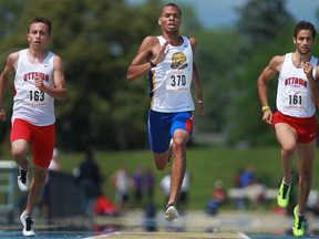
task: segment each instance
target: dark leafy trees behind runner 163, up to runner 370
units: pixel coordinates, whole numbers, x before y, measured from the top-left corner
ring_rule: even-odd
[[[141,148],[147,145],[146,76],[126,82],[126,70],[141,41],[161,34],[160,0],[128,6],[124,0],[0,1],[1,65],[8,54],[28,46],[28,22],[35,15],[52,20],[51,49],[64,62],[69,98],[55,102],[56,143],[61,148]],[[186,15],[192,15],[188,9]],[[198,27],[191,18],[184,28]],[[12,79],[13,80],[13,79]],[[13,89],[4,107],[10,117]],[[0,142],[10,121],[1,124]]]

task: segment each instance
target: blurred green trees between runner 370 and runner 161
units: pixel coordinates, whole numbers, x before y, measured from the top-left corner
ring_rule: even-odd
[[[235,29],[196,33],[206,111],[205,117],[196,118],[196,129],[199,134],[226,136],[230,144],[256,143],[259,139],[249,133],[267,132],[260,123],[257,74],[278,34],[285,35],[291,24],[284,0],[249,0],[238,12]],[[287,42],[278,48],[282,50],[282,45]],[[269,142],[271,136],[260,141]]]

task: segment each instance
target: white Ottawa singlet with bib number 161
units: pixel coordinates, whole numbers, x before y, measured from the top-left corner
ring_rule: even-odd
[[[311,56],[313,77],[318,59]],[[278,77],[277,110],[285,115],[294,117],[311,117],[316,106],[311,98],[311,89],[303,69],[298,69],[292,63],[292,53],[285,55],[285,61]]]

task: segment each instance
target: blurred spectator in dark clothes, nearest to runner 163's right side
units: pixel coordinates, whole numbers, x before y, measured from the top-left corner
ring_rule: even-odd
[[[103,178],[91,148],[85,152],[83,162],[74,168],[73,176],[75,177],[75,185],[80,186],[83,193],[85,211],[88,215],[92,215],[95,201],[102,195],[101,185]]]

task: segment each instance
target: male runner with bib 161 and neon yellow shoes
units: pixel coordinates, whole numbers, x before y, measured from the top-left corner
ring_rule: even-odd
[[[295,52],[271,59],[258,79],[259,97],[263,105],[263,121],[272,124],[281,145],[284,178],[277,202],[286,208],[291,189],[291,165],[295,152],[299,157],[299,199],[294,209],[294,235],[305,233],[305,211],[312,183],[312,165],[316,152],[317,121],[319,106],[317,80],[318,60],[311,55],[316,30],[310,22],[301,21],[295,27]],[[277,112],[268,104],[268,82],[279,73],[277,87]],[[316,104],[316,105],[315,105]]]

